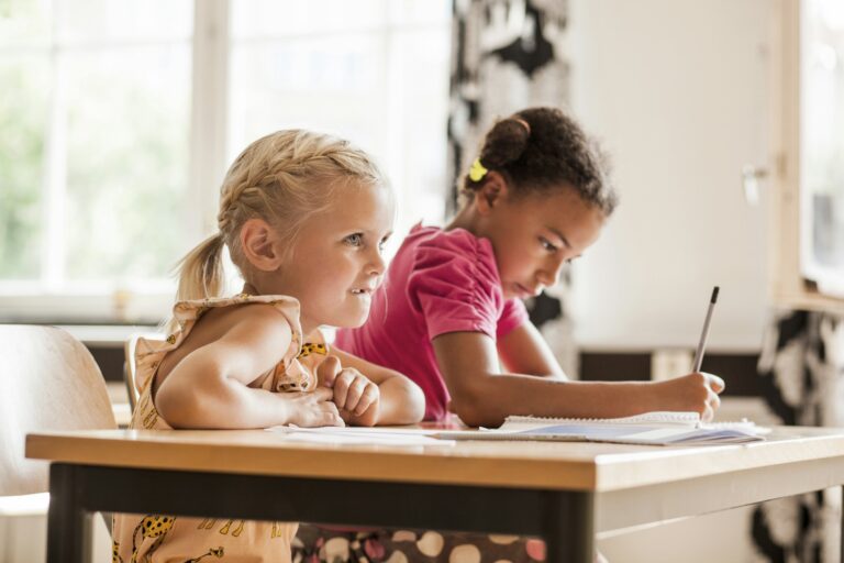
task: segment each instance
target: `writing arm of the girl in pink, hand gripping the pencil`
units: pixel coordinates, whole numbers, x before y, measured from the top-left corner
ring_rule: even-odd
[[[493,340],[451,332],[433,340],[452,395],[452,410],[469,426],[499,426],[510,415],[614,418],[651,410],[697,411],[711,418],[723,382],[689,374],[666,382],[569,382],[502,374]]]

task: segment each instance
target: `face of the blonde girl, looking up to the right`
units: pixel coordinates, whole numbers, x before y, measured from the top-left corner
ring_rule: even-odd
[[[299,299],[302,329],[359,327],[385,272],[396,207],[382,186],[341,186],[330,208],[304,221],[278,292]],[[274,284],[275,285],[275,284]]]

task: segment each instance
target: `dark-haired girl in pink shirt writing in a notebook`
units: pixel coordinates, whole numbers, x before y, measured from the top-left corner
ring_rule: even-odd
[[[577,123],[552,108],[499,121],[464,178],[463,195],[463,208],[444,229],[410,232],[373,297],[368,321],[341,330],[337,347],[413,379],[425,394],[426,420],[443,420],[448,411],[485,427],[510,415],[612,418],[675,410],[712,417],[721,378],[569,380],[528,319],[521,300],[556,284],[564,264],[596,242],[617,205],[601,155]],[[449,561],[458,551],[484,562],[544,556],[542,542],[515,537],[406,530],[349,539],[366,548],[352,550],[356,556],[376,561],[395,551],[402,552],[400,561]],[[338,540],[323,537],[310,545]],[[324,548],[310,553],[326,555]]]

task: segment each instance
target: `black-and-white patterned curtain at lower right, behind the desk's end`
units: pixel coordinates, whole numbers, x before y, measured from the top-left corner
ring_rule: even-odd
[[[808,311],[776,314],[758,372],[763,398],[782,424],[844,426],[844,319]],[[760,561],[840,561],[839,487],[765,503],[752,518]]]

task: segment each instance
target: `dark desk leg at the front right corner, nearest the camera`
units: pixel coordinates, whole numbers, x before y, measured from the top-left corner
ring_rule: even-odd
[[[590,493],[546,493],[543,518],[548,563],[592,563],[595,506]]]

